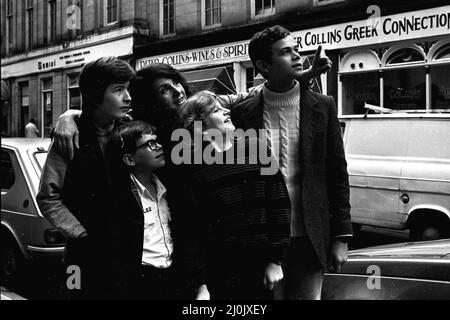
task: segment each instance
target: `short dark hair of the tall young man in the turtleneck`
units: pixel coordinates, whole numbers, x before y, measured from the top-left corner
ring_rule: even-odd
[[[264,77],[266,75],[258,69],[256,61],[262,60],[269,63],[272,62],[272,44],[286,38],[290,34],[289,30],[280,25],[276,25],[253,35],[248,45],[248,55],[250,56],[255,69]]]

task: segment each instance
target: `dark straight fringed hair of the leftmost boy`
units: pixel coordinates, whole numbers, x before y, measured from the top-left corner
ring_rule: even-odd
[[[87,63],[80,73],[79,86],[83,98],[83,111],[92,113],[103,101],[106,88],[115,83],[132,81],[136,73],[119,58],[102,57]]]

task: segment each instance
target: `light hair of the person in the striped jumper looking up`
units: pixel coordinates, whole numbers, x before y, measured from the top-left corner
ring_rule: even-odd
[[[208,109],[208,107],[214,105],[216,101],[218,101],[217,95],[207,90],[197,92],[190,97],[181,110],[183,127],[193,134],[194,122],[202,121],[203,123],[212,111],[212,108]]]

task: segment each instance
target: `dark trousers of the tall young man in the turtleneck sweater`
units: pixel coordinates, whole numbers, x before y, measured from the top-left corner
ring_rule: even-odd
[[[323,268],[308,237],[291,238],[276,299],[320,300]]]

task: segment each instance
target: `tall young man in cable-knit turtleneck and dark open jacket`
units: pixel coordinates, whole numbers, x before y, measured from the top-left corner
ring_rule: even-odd
[[[237,128],[266,129],[291,199],[291,247],[283,269],[287,299],[320,299],[323,272],[338,272],[352,236],[349,184],[341,129],[332,97],[303,88],[298,45],[280,26],[255,34],[254,67],[267,80],[235,106]]]

